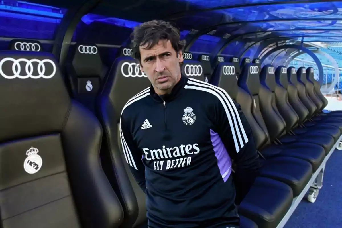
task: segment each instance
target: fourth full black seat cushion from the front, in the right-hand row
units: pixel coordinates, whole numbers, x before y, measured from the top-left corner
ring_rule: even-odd
[[[329,153],[329,151],[334,146],[335,142],[332,136],[325,135],[325,134],[319,134],[316,132],[307,133],[305,135],[284,135],[281,137],[280,142],[282,144],[292,144],[292,143],[298,143],[298,142],[307,142],[319,145],[324,148],[326,154]]]

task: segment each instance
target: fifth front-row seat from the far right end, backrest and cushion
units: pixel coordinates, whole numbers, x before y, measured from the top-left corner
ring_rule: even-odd
[[[287,124],[293,124],[289,125],[290,130],[294,127],[295,122],[293,120],[291,122],[286,122],[283,117],[288,115],[288,113],[283,112],[281,115],[277,108],[275,94],[275,68],[272,65],[265,65],[262,68],[260,82],[261,86],[259,91],[259,98],[261,104],[261,111],[265,118],[267,129],[272,135],[271,140],[277,142],[280,141],[280,143],[283,144],[297,144],[297,142],[317,144],[323,147],[328,153],[335,144],[334,138],[330,135],[325,135],[323,134],[323,132],[308,132],[302,133],[300,135],[287,134]],[[337,134],[339,134],[339,129],[336,129],[336,131]]]

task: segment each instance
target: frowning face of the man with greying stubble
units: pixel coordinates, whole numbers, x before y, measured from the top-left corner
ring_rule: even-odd
[[[180,63],[183,62],[182,52],[178,55],[169,40],[160,40],[151,49],[139,47],[141,71],[145,72],[157,94],[170,93],[173,86],[181,78]]]

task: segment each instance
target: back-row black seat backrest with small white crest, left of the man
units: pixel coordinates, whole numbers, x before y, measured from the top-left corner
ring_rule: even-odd
[[[104,78],[98,47],[95,44],[77,43],[71,51],[71,58],[66,63],[71,96],[94,112],[96,96]]]

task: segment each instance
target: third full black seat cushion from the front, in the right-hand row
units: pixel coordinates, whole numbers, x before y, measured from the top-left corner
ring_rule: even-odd
[[[298,142],[288,145],[269,145],[261,151],[266,159],[283,156],[293,157],[310,162],[313,172],[315,172],[320,164],[324,161],[326,153],[323,147],[311,143]]]

